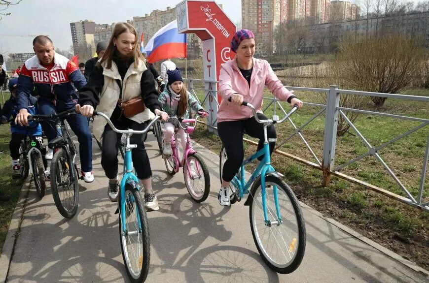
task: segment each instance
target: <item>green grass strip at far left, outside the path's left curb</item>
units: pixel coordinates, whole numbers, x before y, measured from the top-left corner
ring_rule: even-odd
[[[3,93],[5,100],[10,96],[9,93]],[[3,103],[1,103],[3,106]],[[13,210],[18,201],[23,181],[12,179],[12,169],[10,167],[11,157],[9,156],[10,126],[0,126],[0,191],[11,196],[9,201],[0,202],[0,254],[3,250],[3,243],[6,239]]]

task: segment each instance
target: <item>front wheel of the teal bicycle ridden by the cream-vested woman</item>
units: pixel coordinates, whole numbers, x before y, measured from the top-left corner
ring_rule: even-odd
[[[119,237],[128,277],[131,282],[141,283],[149,272],[150,242],[146,211],[138,189],[138,186],[134,188],[130,184],[125,186],[125,207],[120,208],[120,211],[125,209],[125,220],[119,212]],[[122,233],[122,221],[125,221],[125,233]]]

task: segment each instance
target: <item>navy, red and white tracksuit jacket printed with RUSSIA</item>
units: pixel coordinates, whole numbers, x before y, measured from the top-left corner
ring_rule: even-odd
[[[54,66],[48,70],[35,55],[22,66],[16,88],[17,108],[20,110],[29,106],[33,86],[39,102],[49,101],[55,106],[61,103],[72,108],[78,103],[76,89],[80,90],[84,85],[86,80],[78,66],[66,57],[55,53]]]

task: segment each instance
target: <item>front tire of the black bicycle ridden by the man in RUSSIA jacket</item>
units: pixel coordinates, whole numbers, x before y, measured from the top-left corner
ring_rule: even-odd
[[[62,162],[59,164],[58,162]],[[51,161],[51,189],[52,196],[54,198],[55,206],[57,207],[60,214],[65,218],[72,218],[77,211],[77,206],[79,202],[79,185],[77,182],[77,172],[74,166],[70,166],[70,157],[63,148],[58,149],[58,151],[54,154]],[[61,167],[60,167],[61,165]],[[74,170],[74,180],[70,180],[72,178],[72,171]],[[70,195],[67,191],[67,197],[70,199],[70,205],[68,208],[65,208],[63,205],[63,201],[60,196],[58,181],[63,183],[61,178],[61,173],[67,174],[67,186],[72,186],[72,188],[68,188],[68,190],[72,191],[72,195]],[[58,180],[60,179],[60,180]],[[72,184],[70,184],[72,182]],[[63,186],[61,186],[64,188]],[[63,195],[63,193],[61,193]],[[67,201],[67,200],[66,200]]]

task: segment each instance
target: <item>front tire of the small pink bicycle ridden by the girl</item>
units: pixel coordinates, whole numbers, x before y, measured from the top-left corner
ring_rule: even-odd
[[[189,174],[187,172],[187,166],[186,164],[183,166],[183,178],[185,181],[185,186],[186,189],[189,192],[189,195],[191,196],[191,198],[193,200],[195,200],[196,202],[203,202],[207,199],[207,197],[209,196],[210,193],[210,174],[209,174],[209,169],[207,169],[207,165],[204,162],[203,157],[201,157],[199,154],[197,153],[193,153],[190,154],[187,158],[188,162],[191,162],[190,160],[195,159],[195,161],[197,161],[199,163],[199,165],[196,164],[195,162],[195,168],[200,168],[200,170],[198,170],[198,175],[200,175],[200,173],[203,173],[203,177],[204,177],[204,190],[202,191],[201,194],[196,194],[195,193],[195,188],[193,188],[192,184],[192,180],[190,180],[189,178]],[[201,172],[200,172],[201,171]],[[192,173],[191,173],[192,174]],[[201,195],[201,196],[200,196]]]

